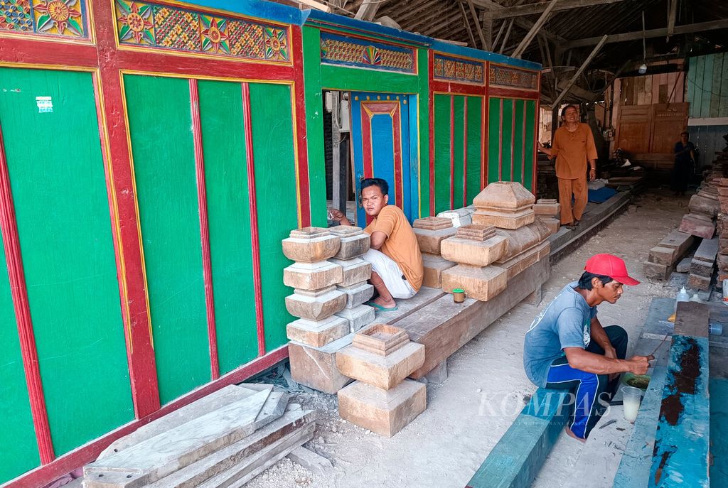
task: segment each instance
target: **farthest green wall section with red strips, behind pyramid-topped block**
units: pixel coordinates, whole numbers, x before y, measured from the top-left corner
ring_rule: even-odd
[[[488,183],[518,181],[534,191],[536,100],[488,100]]]

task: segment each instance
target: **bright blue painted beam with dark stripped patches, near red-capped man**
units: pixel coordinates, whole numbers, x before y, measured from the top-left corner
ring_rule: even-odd
[[[673,335],[649,487],[708,488],[709,440],[708,338]]]

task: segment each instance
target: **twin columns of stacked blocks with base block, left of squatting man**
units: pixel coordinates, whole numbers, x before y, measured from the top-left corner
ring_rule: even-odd
[[[370,239],[361,228],[306,227],[283,239],[283,254],[295,261],[283,270],[283,283],[293,287],[285,297],[288,313],[299,317],[286,327],[293,380],[326,393],[336,393],[349,378],[321,375],[316,361],[351,343],[353,332],[374,321],[374,309],[364,305],[373,295],[368,284],[371,264],[361,259]]]

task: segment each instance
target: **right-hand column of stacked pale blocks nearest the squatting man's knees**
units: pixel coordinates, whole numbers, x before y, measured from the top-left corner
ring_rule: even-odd
[[[341,239],[339,252],[331,263],[341,266],[343,273],[337,289],[347,297],[344,310],[336,316],[347,320],[349,332],[357,332],[374,321],[374,309],[363,305],[374,294],[374,287],[367,282],[371,278],[371,263],[361,259],[369,250],[371,239],[361,228],[351,225],[339,225],[329,231]]]

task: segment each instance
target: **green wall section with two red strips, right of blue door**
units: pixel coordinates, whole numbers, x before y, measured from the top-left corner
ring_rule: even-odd
[[[435,185],[432,191],[435,212],[443,212],[451,209],[451,196],[454,208],[466,207],[482,189],[483,97],[438,93],[433,103]]]

